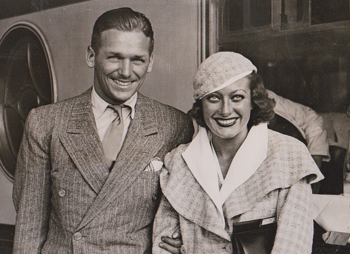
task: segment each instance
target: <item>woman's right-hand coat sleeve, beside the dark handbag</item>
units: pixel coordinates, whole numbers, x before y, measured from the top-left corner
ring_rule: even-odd
[[[310,254],[313,240],[311,186],[306,179],[281,189],[277,232],[271,254]]]

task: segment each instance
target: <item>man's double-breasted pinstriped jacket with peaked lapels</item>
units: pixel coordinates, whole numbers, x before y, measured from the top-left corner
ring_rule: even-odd
[[[109,173],[90,92],[28,116],[13,189],[14,254],[151,252],[159,172],[144,169],[189,142],[192,121],[139,94]]]

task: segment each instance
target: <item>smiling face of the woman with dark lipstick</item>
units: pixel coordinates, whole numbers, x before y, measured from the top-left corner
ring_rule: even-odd
[[[252,109],[249,80],[246,77],[208,94],[201,101],[204,120],[212,135],[223,139],[245,139]]]

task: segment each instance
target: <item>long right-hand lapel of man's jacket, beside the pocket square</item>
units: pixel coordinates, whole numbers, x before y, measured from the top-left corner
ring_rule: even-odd
[[[158,119],[152,101],[138,94],[135,117],[130,123],[116,163],[78,229],[116,200],[137,179],[163,146],[163,133],[158,130],[161,124]]]

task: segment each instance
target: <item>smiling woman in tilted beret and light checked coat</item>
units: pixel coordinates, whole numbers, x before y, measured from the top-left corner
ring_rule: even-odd
[[[245,245],[230,241],[237,223],[257,231],[262,225],[277,228],[271,244],[255,246],[256,253],[311,252],[310,184],[323,176],[303,143],[267,129],[275,102],[256,72],[233,52],[213,54],[198,68],[189,114],[200,127],[192,142],[165,158],[153,253],[161,253],[160,238],[180,225],[187,253],[233,248],[249,254]]]

